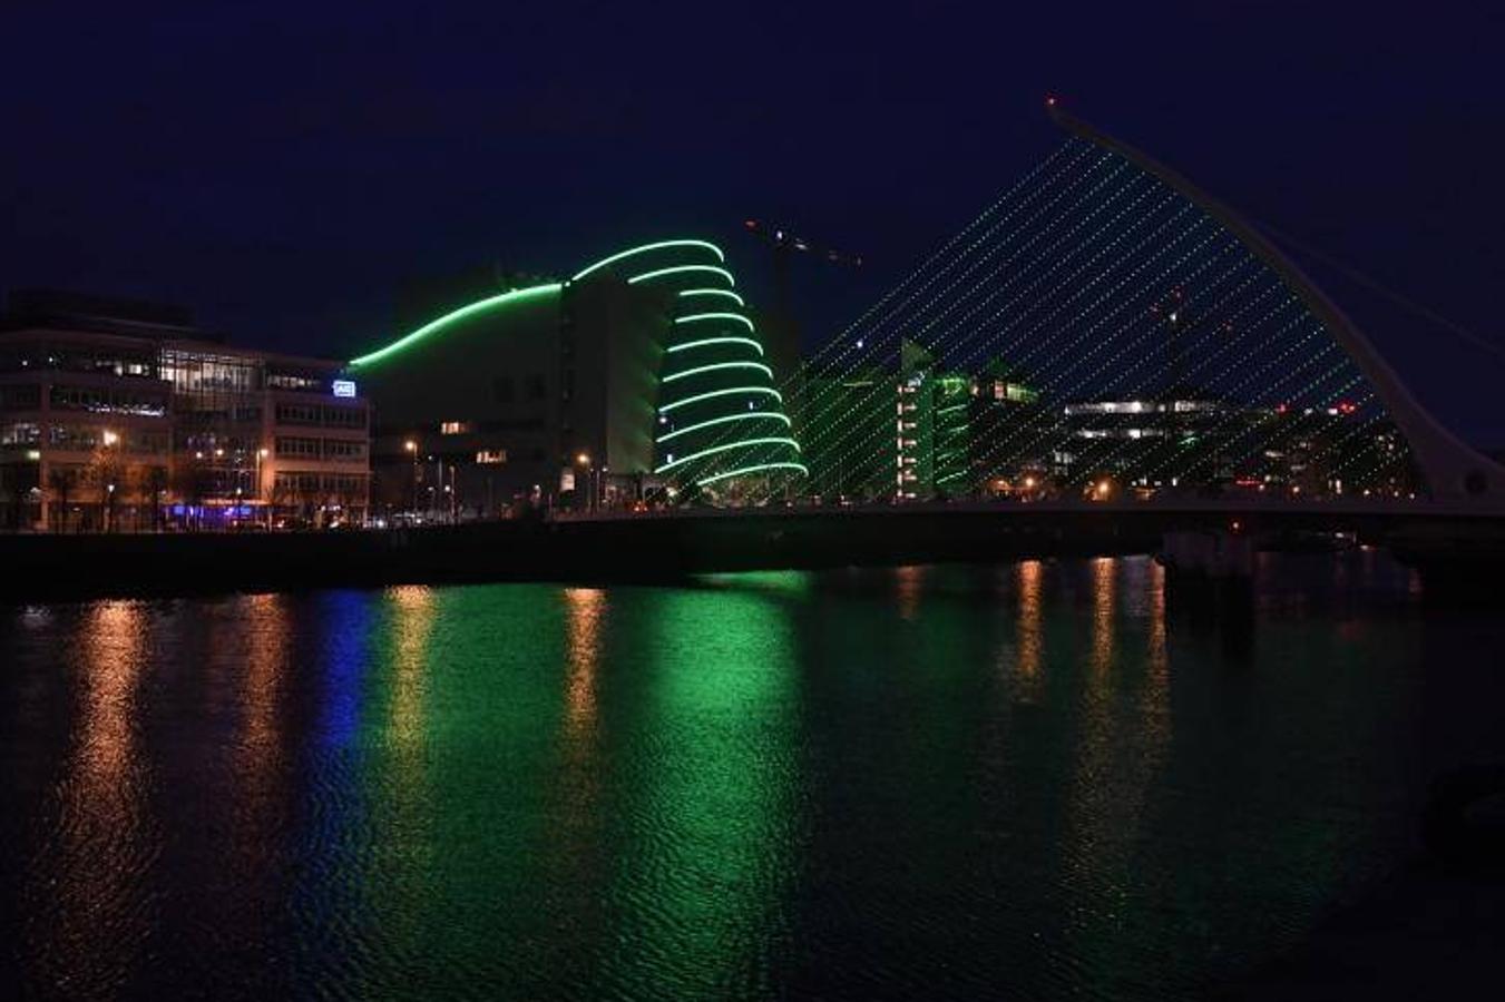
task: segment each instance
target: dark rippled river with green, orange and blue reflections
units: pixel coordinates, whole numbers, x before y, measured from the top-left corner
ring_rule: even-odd
[[[1383,554],[0,609],[41,997],[1196,997],[1505,758],[1505,624]]]

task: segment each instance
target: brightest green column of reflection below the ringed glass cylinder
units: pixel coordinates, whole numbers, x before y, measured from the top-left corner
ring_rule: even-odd
[[[638,725],[659,751],[620,858],[637,934],[610,979],[640,996],[766,990],[795,830],[790,621],[774,597],[712,588],[655,594],[650,623]]]

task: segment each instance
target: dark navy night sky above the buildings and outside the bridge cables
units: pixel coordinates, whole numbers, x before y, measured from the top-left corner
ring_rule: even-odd
[[[1050,152],[1054,92],[1505,352],[1499,9],[5,0],[0,286],[349,357],[415,281],[664,236],[716,239],[766,298],[760,217],[867,260],[801,268],[820,340]],[[1329,292],[1505,445],[1502,355]]]

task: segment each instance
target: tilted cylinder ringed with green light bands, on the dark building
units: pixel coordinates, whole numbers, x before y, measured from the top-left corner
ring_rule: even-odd
[[[658,379],[653,474],[685,490],[737,498],[790,486],[808,469],[790,432],[757,328],[715,244],[646,244],[570,283],[614,277],[656,292],[668,311]]]

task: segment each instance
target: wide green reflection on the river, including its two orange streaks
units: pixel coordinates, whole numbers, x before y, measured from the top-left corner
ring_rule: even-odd
[[[787,927],[804,588],[388,591],[355,752],[369,818],[346,837],[367,843],[355,921],[411,981],[361,991],[464,970],[509,993],[762,985]]]

